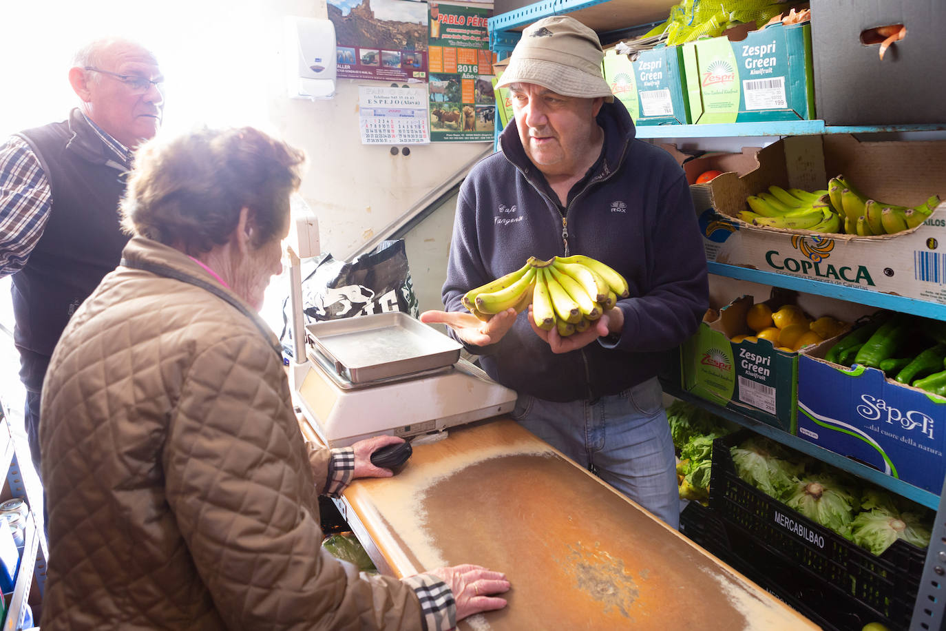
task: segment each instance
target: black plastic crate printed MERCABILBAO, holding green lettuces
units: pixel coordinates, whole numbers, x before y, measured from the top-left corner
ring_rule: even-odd
[[[727,524],[733,554],[776,583],[780,565],[796,567],[812,587],[831,594],[826,601],[857,613],[862,624],[905,629],[926,551],[897,540],[875,556],[743,481],[729,448],[752,435],[742,430],[713,442],[710,507]]]

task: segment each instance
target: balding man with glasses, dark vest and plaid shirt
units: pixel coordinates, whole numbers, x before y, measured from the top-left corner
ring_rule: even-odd
[[[0,145],[0,276],[12,274],[14,342],[26,433],[40,468],[40,393],[53,347],[129,237],[118,202],[131,151],[161,124],[164,78],[149,50],[121,39],[82,47],[69,70],[79,107]]]

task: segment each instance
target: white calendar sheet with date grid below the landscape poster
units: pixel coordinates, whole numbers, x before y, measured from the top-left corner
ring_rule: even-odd
[[[426,88],[359,86],[362,145],[430,142]]]

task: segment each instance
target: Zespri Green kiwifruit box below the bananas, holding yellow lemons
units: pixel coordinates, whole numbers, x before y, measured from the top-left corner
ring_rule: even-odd
[[[754,302],[749,295],[737,298],[680,345],[681,385],[711,403],[794,434],[798,354],[781,351],[768,340],[730,341],[752,334],[745,315]]]

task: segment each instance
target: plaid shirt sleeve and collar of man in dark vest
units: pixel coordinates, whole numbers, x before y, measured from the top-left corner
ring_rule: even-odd
[[[85,118],[117,162],[131,168],[131,151]],[[40,160],[20,136],[0,145],[0,276],[26,265],[43,236],[52,208],[52,191]]]

